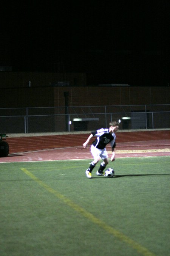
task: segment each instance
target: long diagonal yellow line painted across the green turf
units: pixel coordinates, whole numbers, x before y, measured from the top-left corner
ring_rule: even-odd
[[[36,181],[41,187],[45,188],[49,193],[55,195],[57,198],[59,198],[61,201],[63,201],[65,204],[70,206],[72,209],[76,210],[76,212],[79,212],[79,214],[82,214],[85,218],[90,220],[91,222],[95,223],[96,225],[103,228],[105,231],[107,231],[109,234],[112,234],[113,236],[117,237],[121,241],[128,243],[132,248],[134,248],[138,253],[141,253],[144,256],[155,256],[155,254],[148,251],[147,248],[143,247],[139,243],[136,243],[134,240],[130,239],[128,236],[125,236],[121,232],[117,231],[116,229],[112,228],[111,226],[107,225],[104,221],[100,220],[99,218],[96,218],[93,214],[79,206],[78,204],[71,201],[66,196],[60,194],[57,190],[54,190],[53,188],[49,187],[47,184],[45,184],[43,181],[41,181],[39,178],[37,178],[34,174],[32,174],[30,171],[28,171],[26,168],[21,168],[21,170],[28,175],[31,179]]]

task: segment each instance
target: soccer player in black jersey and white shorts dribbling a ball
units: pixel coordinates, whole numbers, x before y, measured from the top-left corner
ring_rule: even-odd
[[[100,176],[104,175],[104,169],[109,163],[108,153],[105,148],[108,143],[111,144],[111,148],[112,148],[112,156],[110,160],[111,162],[115,160],[115,147],[116,147],[115,132],[117,132],[118,129],[119,129],[119,123],[117,123],[116,121],[110,122],[109,128],[107,129],[102,128],[99,130],[92,131],[87,141],[83,143],[83,147],[85,148],[93,136],[97,137],[91,145],[91,154],[93,155],[94,160],[91,162],[89,168],[86,170],[86,176],[88,178],[92,177],[91,172],[93,168],[96,166],[96,163],[99,162],[100,158],[103,160],[103,162],[100,164],[99,170],[96,172],[96,174]]]

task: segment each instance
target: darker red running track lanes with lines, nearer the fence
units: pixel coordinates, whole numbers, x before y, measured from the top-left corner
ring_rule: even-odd
[[[41,149],[56,149],[66,147],[79,147],[88,138],[90,133],[64,133],[57,135],[36,136],[34,133],[28,136],[12,137],[9,135],[6,142],[9,144],[9,153],[36,151]],[[117,143],[131,142],[131,141],[150,141],[150,140],[170,140],[170,130],[140,130],[116,133]],[[91,139],[91,142],[94,138]]]

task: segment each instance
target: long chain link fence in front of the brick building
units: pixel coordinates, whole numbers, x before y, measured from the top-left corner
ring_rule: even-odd
[[[0,108],[1,133],[91,131],[114,120],[123,130],[170,128],[170,104]]]

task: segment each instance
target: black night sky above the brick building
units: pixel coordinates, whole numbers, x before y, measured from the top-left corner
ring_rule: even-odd
[[[0,66],[54,72],[62,62],[91,83],[167,85],[169,11],[167,0],[3,3]]]

